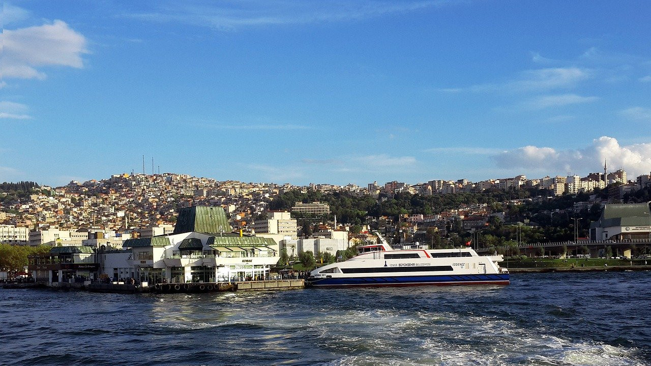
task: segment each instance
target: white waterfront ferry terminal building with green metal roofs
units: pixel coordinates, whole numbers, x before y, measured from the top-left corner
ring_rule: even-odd
[[[182,208],[172,234],[129,239],[122,247],[98,252],[100,273],[150,285],[268,279],[279,260],[273,239],[232,232],[221,207]]]

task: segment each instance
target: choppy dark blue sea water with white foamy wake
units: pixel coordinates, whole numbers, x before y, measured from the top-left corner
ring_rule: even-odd
[[[507,287],[0,291],[7,365],[651,365],[648,273]]]

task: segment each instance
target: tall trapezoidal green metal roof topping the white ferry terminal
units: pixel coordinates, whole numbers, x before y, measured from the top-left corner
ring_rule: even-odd
[[[206,234],[219,234],[221,232],[230,232],[229,219],[226,217],[224,209],[215,206],[191,206],[182,208],[178,212],[174,234],[184,232],[205,232]]]

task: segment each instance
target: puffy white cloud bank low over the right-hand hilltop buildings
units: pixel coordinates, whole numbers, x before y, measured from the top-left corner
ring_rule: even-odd
[[[605,160],[610,169],[621,168],[634,177],[651,171],[651,143],[621,146],[614,137],[603,136],[594,139],[589,147],[575,150],[527,146],[492,158],[503,169],[529,169],[546,174],[599,171]]]

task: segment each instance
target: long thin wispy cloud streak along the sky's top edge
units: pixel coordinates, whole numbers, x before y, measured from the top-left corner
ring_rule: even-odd
[[[157,12],[125,14],[130,18],[158,22],[179,22],[213,29],[232,30],[261,25],[291,25],[350,21],[374,18],[392,13],[404,13],[424,8],[442,7],[449,0],[421,1],[250,1],[215,3],[212,6],[178,3],[159,7]]]

